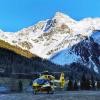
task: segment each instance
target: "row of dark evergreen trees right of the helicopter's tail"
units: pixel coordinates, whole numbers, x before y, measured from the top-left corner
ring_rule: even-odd
[[[86,78],[86,75],[83,74],[81,80],[69,79],[66,89],[68,91],[100,90],[100,80],[95,80],[93,76],[91,79]]]

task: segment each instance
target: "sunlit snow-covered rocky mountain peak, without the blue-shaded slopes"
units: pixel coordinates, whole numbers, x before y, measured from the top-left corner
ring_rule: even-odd
[[[87,18],[75,21],[57,12],[52,19],[40,21],[16,33],[1,32],[0,39],[42,57],[50,58],[55,53],[69,48],[100,29],[100,19]]]

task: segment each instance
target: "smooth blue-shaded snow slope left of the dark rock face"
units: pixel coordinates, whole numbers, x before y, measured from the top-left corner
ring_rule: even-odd
[[[50,60],[59,65],[69,65],[73,62],[77,62],[78,59],[80,59],[80,56],[76,55],[75,53],[71,53],[70,49],[65,49],[55,54]]]

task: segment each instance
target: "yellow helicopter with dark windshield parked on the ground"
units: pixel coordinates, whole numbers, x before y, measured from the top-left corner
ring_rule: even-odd
[[[39,78],[33,81],[32,87],[34,94],[37,94],[38,92],[46,92],[48,94],[53,94],[55,88],[58,87],[56,83],[59,83],[60,88],[64,88],[64,73],[62,72],[60,75],[60,79],[57,80],[53,75],[50,75],[48,74],[48,72],[46,72],[45,74],[42,74]]]

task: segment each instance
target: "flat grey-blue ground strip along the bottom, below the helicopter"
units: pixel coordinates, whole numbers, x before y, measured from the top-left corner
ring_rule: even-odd
[[[66,91],[52,94],[0,94],[0,100],[100,100],[100,91]]]

